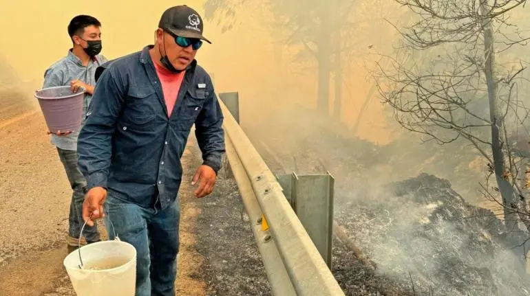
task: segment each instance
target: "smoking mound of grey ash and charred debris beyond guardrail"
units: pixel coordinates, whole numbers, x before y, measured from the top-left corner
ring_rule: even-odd
[[[466,203],[448,181],[421,174],[368,192],[337,196],[335,218],[380,273],[412,277],[421,294],[530,295],[522,248],[512,249],[527,234]]]

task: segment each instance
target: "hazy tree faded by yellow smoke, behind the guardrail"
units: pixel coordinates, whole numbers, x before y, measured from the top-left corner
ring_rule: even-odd
[[[207,0],[204,4],[206,19],[217,19],[222,30],[231,30],[235,24],[237,8],[248,5],[246,0]],[[257,2],[256,2],[257,3]],[[268,25],[275,38],[285,46],[301,45],[295,55],[299,64],[316,62],[317,109],[329,113],[330,82],[335,74],[335,106],[333,113],[340,117],[343,96],[343,67],[345,60],[357,46],[359,23],[371,18],[353,20],[358,5],[368,5],[361,0],[274,0],[262,2],[270,12]],[[346,58],[345,58],[346,57]]]

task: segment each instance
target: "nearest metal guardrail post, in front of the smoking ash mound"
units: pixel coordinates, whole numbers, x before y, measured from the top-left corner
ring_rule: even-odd
[[[301,224],[331,269],[333,241],[333,190],[335,178],[327,174],[279,174],[284,190]]]

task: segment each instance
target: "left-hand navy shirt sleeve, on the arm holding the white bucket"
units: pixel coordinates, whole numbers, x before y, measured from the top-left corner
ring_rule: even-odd
[[[107,187],[112,157],[112,134],[123,106],[123,83],[116,69],[102,74],[87,112],[77,143],[78,164],[87,179],[88,189]]]

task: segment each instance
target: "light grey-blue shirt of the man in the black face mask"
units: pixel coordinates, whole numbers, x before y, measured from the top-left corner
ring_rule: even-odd
[[[70,85],[70,82],[76,79],[89,85],[95,85],[96,80],[94,79],[94,73],[96,72],[96,68],[105,62],[107,62],[107,58],[103,55],[98,55],[90,60],[87,67],[85,67],[83,66],[83,62],[81,62],[81,59],[72,53],[72,49],[70,49],[67,56],[61,58],[61,60],[58,60],[46,69],[44,73],[43,88]],[[83,124],[85,122],[90,100],[92,100],[92,95],[85,93],[85,98],[83,100]],[[78,135],[78,130],[65,137],[52,135],[52,144],[63,150],[77,150]]]

